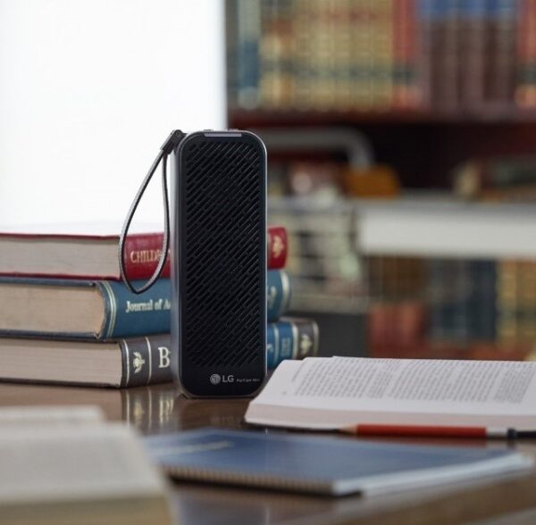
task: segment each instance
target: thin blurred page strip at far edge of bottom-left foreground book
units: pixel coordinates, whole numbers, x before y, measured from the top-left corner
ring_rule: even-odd
[[[0,408],[0,432],[9,429],[50,426],[98,425],[105,421],[102,409],[79,406],[6,406]]]

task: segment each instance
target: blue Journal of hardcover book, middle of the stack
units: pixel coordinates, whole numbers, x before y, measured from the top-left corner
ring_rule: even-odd
[[[289,310],[290,280],[284,270],[267,275],[267,316],[275,321]],[[170,308],[170,279],[158,279],[137,295],[121,281],[0,277],[2,336],[109,339],[166,333]]]

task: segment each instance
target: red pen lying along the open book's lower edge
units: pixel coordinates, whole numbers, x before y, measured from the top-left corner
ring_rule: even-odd
[[[481,439],[498,437],[515,439],[517,437],[536,437],[536,430],[499,429],[486,427],[451,427],[433,425],[380,425],[362,424],[339,429],[341,432],[356,436],[420,436],[420,437],[478,437]]]

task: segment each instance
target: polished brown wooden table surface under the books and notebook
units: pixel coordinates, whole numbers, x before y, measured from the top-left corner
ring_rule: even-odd
[[[0,384],[0,406],[30,404],[97,404],[109,420],[127,421],[144,434],[206,426],[246,428],[243,416],[247,400],[188,400],[173,385],[113,390]],[[411,440],[415,441],[415,438]],[[427,443],[441,442],[428,440]],[[505,441],[458,440],[449,444],[517,446],[536,458],[536,441],[513,445]],[[536,469],[523,475],[456,487],[368,498],[301,496],[192,483],[172,484],[171,492],[180,525],[536,523]]]

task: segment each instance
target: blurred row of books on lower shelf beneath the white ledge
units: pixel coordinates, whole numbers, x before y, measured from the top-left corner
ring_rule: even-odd
[[[536,340],[536,263],[371,256],[374,357],[523,359]]]

